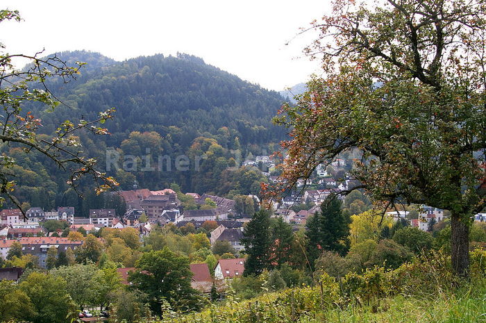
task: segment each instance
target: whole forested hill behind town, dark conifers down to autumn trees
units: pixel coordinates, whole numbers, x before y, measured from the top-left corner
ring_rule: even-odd
[[[271,123],[283,101],[277,92],[187,54],[124,62],[87,51],[56,55],[69,64],[81,61],[86,65],[76,81],[47,79],[47,88],[62,102],[55,110],[31,102],[24,103],[23,110],[40,117],[40,133],[51,135],[67,119],[95,119],[100,112],[115,108],[115,118],[103,125],[110,135],[85,131],[78,138],[87,156],[99,160],[102,171],[106,151],[116,151],[117,155],[110,156],[119,156],[115,160],[119,163],[111,163],[107,173],[119,180],[121,189],[131,189],[135,181],[139,187],[153,190],[176,182],[184,191],[249,194],[265,181],[260,172],[238,167],[249,153],[273,152],[285,137],[285,129]],[[44,156],[23,154],[15,145],[1,147],[1,151],[19,161],[15,177],[22,203],[50,208],[77,199],[65,185],[65,174]],[[135,163],[124,165],[127,154],[135,156]],[[144,157],[146,154],[150,157]],[[181,155],[187,156],[190,166],[176,170],[176,156]],[[158,160],[163,160],[160,165]],[[144,172],[144,167],[156,170]],[[80,183],[81,191],[89,187],[89,181]]]

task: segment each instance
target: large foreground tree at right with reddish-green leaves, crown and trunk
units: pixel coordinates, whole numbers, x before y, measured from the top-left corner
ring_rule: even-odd
[[[285,182],[359,149],[350,175],[384,208],[451,210],[465,274],[471,214],[486,205],[485,25],[483,0],[335,1],[306,49],[326,77],[276,119],[292,127]]]

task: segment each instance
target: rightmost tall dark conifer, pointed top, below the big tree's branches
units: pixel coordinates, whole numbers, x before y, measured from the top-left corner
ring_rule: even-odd
[[[344,254],[346,238],[349,235],[351,220],[342,212],[342,201],[331,195],[321,204],[321,211],[312,216],[308,222],[308,257],[313,265],[321,250]]]

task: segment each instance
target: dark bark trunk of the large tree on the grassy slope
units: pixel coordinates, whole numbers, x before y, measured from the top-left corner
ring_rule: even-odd
[[[469,270],[469,224],[460,214],[451,216],[452,267],[459,276],[467,276]]]

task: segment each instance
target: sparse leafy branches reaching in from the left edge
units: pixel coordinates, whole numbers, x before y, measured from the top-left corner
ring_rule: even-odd
[[[0,10],[0,22],[16,20],[21,17],[16,10]],[[45,119],[34,115],[31,110],[24,110],[26,102],[44,105],[49,110],[55,110],[60,101],[47,87],[47,78],[58,78],[60,83],[68,83],[76,78],[78,70],[83,65],[77,63],[70,67],[64,60],[54,55],[49,58],[40,58],[40,53],[34,56],[24,54],[12,55],[7,53],[3,44],[0,46],[0,98],[2,117],[0,119],[1,150],[10,146],[8,154],[0,157],[0,205],[8,200],[11,204],[22,209],[21,202],[15,197],[15,185],[20,181],[22,185],[36,186],[47,175],[43,168],[41,172],[33,172],[30,169],[17,165],[17,160],[24,161],[26,152],[33,152],[42,156],[56,165],[63,172],[69,173],[67,184],[76,188],[83,175],[90,174],[98,184],[97,190],[106,190],[117,183],[112,177],[105,176],[95,168],[96,160],[87,158],[81,149],[78,138],[79,131],[88,131],[97,135],[106,135],[107,129],[97,126],[112,118],[114,109],[103,110],[92,121],[79,119],[78,121],[65,121],[56,124],[56,130],[52,133],[41,135],[40,128]],[[17,70],[12,64],[13,59],[24,58],[29,65],[22,70]],[[15,150],[17,149],[17,150]],[[48,183],[52,183],[48,179]],[[44,194],[44,188],[37,189],[39,194]],[[25,210],[22,209],[24,212]]]

